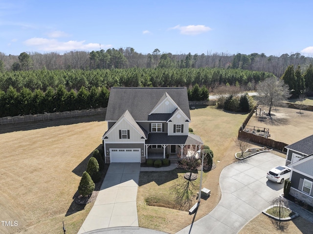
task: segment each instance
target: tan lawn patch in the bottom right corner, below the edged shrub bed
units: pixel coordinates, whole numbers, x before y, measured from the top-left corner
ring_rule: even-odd
[[[297,217],[290,221],[281,222],[281,230],[279,222],[261,213],[252,219],[239,234],[312,234],[313,223],[302,217]]]

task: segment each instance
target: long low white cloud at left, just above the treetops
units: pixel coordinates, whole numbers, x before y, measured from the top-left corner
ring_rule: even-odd
[[[46,39],[46,38],[31,38],[24,42],[28,46],[35,46],[37,49],[42,51],[70,51],[70,50],[91,50],[99,49],[99,43],[88,43],[85,41],[68,41],[59,42],[56,39]],[[109,48],[112,45],[102,45],[101,48]]]

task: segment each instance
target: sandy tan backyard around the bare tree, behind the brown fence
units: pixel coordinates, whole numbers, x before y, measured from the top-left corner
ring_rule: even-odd
[[[267,112],[268,107],[262,106],[262,110]],[[269,128],[270,139],[290,145],[313,133],[313,112],[307,110],[301,110],[302,114],[298,112],[297,109],[274,107],[271,110],[272,120],[266,118],[259,121],[258,116],[252,115],[247,125]]]

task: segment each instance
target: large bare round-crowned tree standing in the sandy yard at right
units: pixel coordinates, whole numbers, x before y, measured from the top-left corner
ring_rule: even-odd
[[[261,105],[268,106],[268,115],[273,106],[282,105],[291,96],[289,86],[283,80],[269,77],[257,85],[257,100]]]

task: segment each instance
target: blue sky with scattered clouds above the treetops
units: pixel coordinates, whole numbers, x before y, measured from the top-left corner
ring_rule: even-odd
[[[313,56],[312,0],[0,0],[0,52]]]

